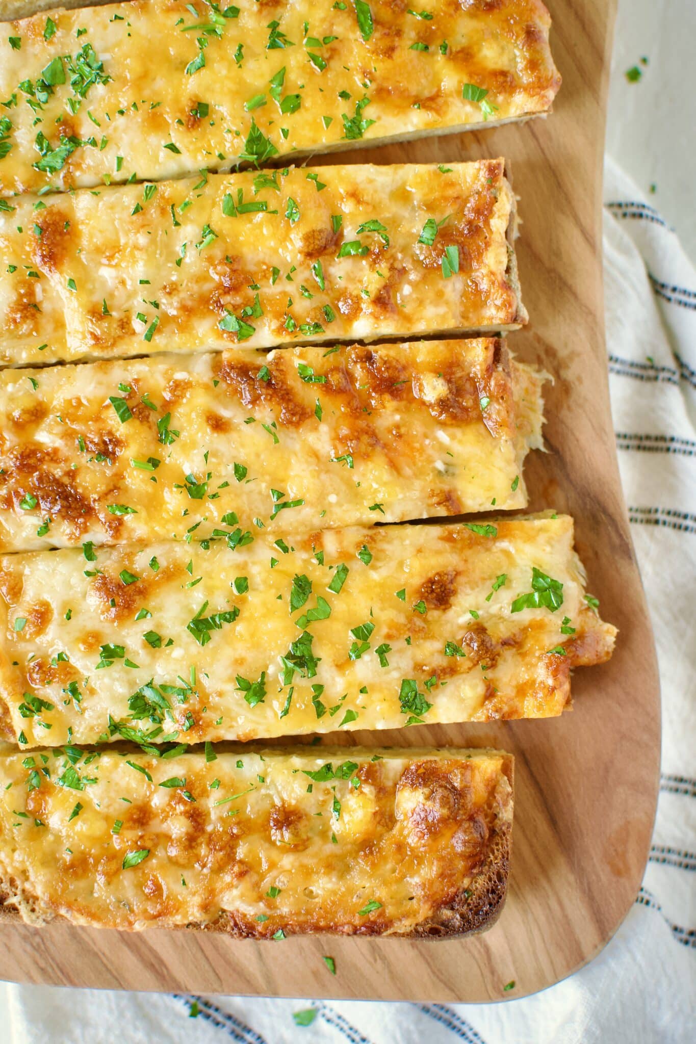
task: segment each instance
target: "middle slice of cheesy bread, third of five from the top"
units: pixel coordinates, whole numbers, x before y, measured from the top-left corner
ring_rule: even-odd
[[[0,549],[524,507],[541,382],[494,339],[5,370]]]

